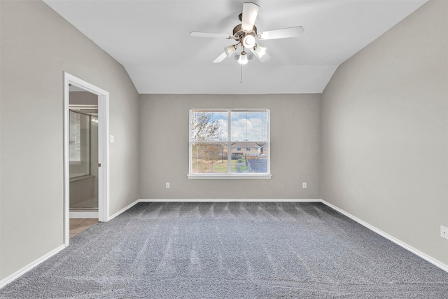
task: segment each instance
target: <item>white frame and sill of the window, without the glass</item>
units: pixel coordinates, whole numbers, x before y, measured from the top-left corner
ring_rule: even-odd
[[[216,111],[216,112],[228,112],[228,169],[231,169],[232,164],[232,112],[239,111],[267,111],[267,141],[266,140],[249,140],[249,142],[263,142],[267,143],[267,172],[266,173],[202,173],[202,174],[193,174],[192,173],[192,144],[197,142],[191,140],[191,120],[192,120],[192,112],[193,111]],[[271,179],[271,110],[270,109],[214,109],[214,108],[206,108],[206,109],[190,109],[189,113],[189,123],[188,123],[188,179]],[[215,144],[217,141],[201,141],[199,143],[202,144]],[[218,141],[218,143],[222,143]],[[229,154],[230,153],[230,154]]]

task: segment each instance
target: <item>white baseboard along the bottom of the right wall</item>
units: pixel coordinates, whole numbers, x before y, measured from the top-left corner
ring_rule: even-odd
[[[360,225],[363,225],[365,228],[368,228],[369,230],[372,230],[372,232],[376,232],[381,237],[385,237],[389,241],[392,241],[393,243],[397,244],[398,246],[401,246],[402,248],[406,249],[407,251],[411,251],[416,256],[419,256],[420,258],[423,258],[423,260],[426,260],[429,263],[431,263],[431,264],[433,264],[433,265],[435,265],[437,267],[440,267],[440,269],[448,272],[448,265],[442,263],[440,260],[436,260],[435,258],[432,258],[432,257],[428,256],[426,253],[423,253],[423,252],[419,251],[418,249],[415,249],[414,247],[410,246],[409,244],[406,244],[405,242],[400,241],[400,239],[397,239],[397,238],[389,235],[387,232],[384,232],[382,230],[379,230],[378,228],[375,228],[373,225],[370,225],[369,223],[360,220],[360,218],[347,213],[343,209],[339,209],[335,205],[330,204],[330,202],[325,202],[325,200],[321,200],[321,202],[323,204],[326,204],[328,207],[330,207],[332,209],[335,209],[336,211],[338,211],[339,213],[343,214],[344,216],[347,216],[347,217],[351,218],[352,220],[356,221]]]

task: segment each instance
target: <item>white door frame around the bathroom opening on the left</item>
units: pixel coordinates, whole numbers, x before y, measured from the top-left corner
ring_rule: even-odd
[[[98,95],[98,217],[109,221],[109,92],[64,71],[64,244],[70,241],[69,84]]]

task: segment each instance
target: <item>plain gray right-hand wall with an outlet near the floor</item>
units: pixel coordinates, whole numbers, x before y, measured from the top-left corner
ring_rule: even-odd
[[[448,265],[448,2],[344,62],[323,92],[322,197]]]

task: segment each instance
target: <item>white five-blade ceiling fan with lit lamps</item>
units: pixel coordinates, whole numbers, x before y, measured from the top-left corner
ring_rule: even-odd
[[[213,61],[214,63],[222,62],[226,57],[230,57],[239,46],[241,46],[241,55],[239,56],[238,62],[240,64],[247,64],[248,58],[246,50],[250,50],[255,57],[257,57],[261,62],[267,62],[271,57],[266,53],[266,48],[255,43],[255,39],[267,40],[267,39],[286,39],[289,37],[300,36],[303,33],[303,27],[290,27],[283,29],[270,30],[267,32],[257,32],[257,27],[255,27],[255,19],[258,15],[258,10],[260,6],[252,2],[244,2],[243,13],[239,14],[239,20],[241,24],[237,25],[233,29],[233,34],[220,34],[220,33],[205,33],[205,32],[191,32],[192,37],[210,37],[218,39],[233,39],[237,41],[235,45],[227,46],[224,48],[224,52],[221,53]]]

